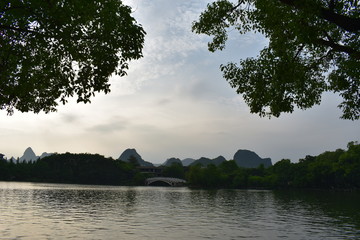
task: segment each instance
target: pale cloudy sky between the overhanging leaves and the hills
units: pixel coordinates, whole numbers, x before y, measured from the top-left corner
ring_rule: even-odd
[[[360,122],[341,120],[341,99],[331,93],[308,110],[279,118],[251,114],[241,95],[222,78],[220,64],[255,57],[267,40],[232,31],[226,49],[211,53],[208,36],[191,32],[210,1],[126,0],[147,32],[144,57],[126,77],[113,76],[111,92],[91,104],[70,99],[49,114],[0,111],[0,153],[21,157],[27,147],[43,152],[98,153],[118,158],[135,148],[146,161],[220,155],[239,149],[297,162],[360,140]]]

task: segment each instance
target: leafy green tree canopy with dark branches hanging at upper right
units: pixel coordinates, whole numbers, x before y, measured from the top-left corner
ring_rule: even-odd
[[[360,4],[357,0],[218,0],[193,23],[222,50],[228,32],[255,31],[269,39],[256,58],[221,65],[224,78],[252,113],[280,116],[339,94],[343,119],[360,117]]]

